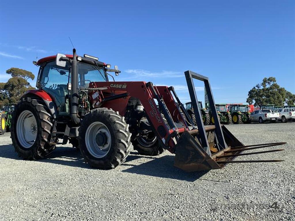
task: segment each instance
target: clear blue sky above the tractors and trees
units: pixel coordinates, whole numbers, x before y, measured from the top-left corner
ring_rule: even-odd
[[[173,85],[208,76],[216,103],[246,102],[263,77],[295,93],[295,1],[1,1],[0,82],[32,61],[71,53],[118,65],[116,80]],[[32,82],[35,86],[35,82]],[[201,82],[195,82],[204,100]]]

